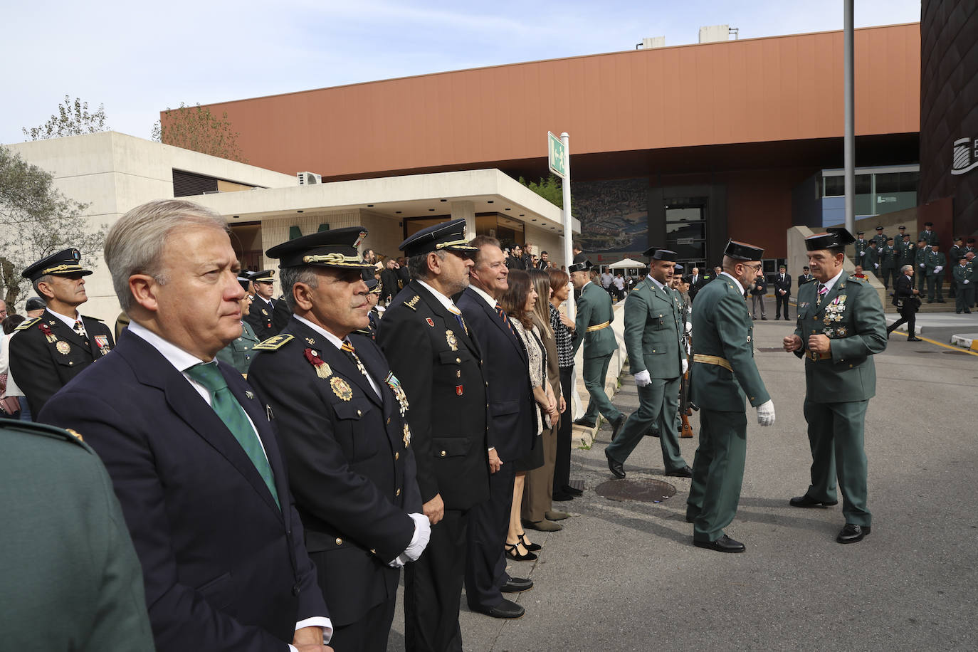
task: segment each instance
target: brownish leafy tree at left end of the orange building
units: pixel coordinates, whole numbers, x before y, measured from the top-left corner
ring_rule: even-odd
[[[179,109],[163,111],[152,136],[157,143],[247,162],[238,147],[241,134],[232,129],[227,111],[217,117],[200,104],[186,107],[181,102]]]

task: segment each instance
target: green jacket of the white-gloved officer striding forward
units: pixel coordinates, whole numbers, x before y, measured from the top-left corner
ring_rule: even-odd
[[[660,289],[648,277],[625,299],[625,348],[632,373],[648,371],[652,378],[683,375],[686,305],[679,292]]]

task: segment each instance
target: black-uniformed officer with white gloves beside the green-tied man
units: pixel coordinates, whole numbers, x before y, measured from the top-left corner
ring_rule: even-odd
[[[275,413],[333,647],[383,652],[400,568],[421,556],[431,526],[407,397],[373,339],[351,334],[371,310],[361,272],[374,266],[357,252],[366,236],[334,229],[268,250],[292,318],[255,347],[248,382]]]

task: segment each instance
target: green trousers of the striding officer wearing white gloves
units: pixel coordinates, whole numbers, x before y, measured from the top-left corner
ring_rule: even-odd
[[[652,378],[645,387],[639,387],[639,409],[629,415],[604,453],[615,461],[625,463],[645,433],[654,425],[659,430],[665,469],[675,471],[686,466],[686,460],[679,450],[679,434],[676,430],[679,386],[682,380],[683,376]]]

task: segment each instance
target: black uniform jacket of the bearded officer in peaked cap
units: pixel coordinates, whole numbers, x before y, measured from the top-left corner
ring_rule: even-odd
[[[377,341],[411,405],[408,425],[422,501],[440,494],[446,509],[468,509],[487,500],[488,401],[474,339],[412,281],[384,311]]]

